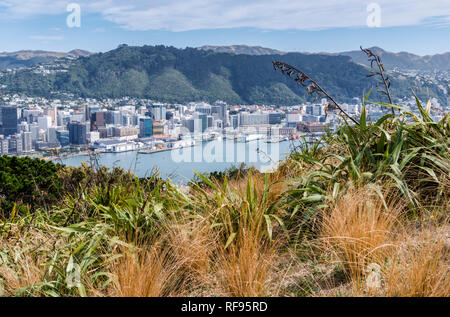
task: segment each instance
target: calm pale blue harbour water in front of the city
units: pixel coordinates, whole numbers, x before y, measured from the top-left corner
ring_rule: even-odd
[[[152,154],[139,154],[137,151],[123,153],[101,153],[100,165],[122,167],[131,170],[138,177],[151,174],[153,168],[159,169],[163,177],[170,177],[177,183],[185,183],[198,173],[223,171],[232,166],[245,163],[260,171],[267,171],[283,160],[294,145],[293,142],[265,143],[255,140],[247,143],[232,140],[214,140],[193,147],[164,151]],[[80,166],[88,162],[88,156],[58,159],[55,162]]]

